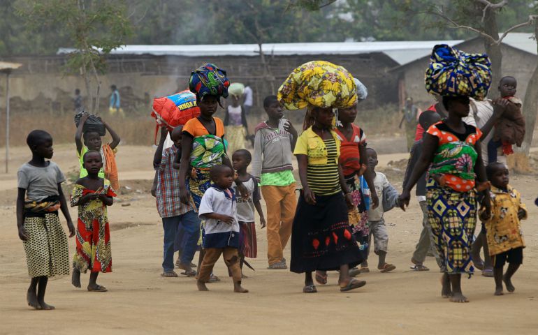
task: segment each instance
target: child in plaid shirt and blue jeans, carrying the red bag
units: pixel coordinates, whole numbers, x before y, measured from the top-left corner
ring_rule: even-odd
[[[185,276],[194,276],[196,271],[191,268],[191,262],[196,253],[200,238],[200,219],[192,204],[184,204],[180,198],[180,172],[173,168],[177,156],[181,156],[181,140],[183,126],[177,126],[170,136],[173,145],[163,149],[168,135],[167,128],[161,128],[161,140],[155,151],[153,166],[155,168],[155,198],[157,211],[163,221],[163,277],[177,277],[174,271],[174,244],[178,240],[177,249],[181,256],[177,267],[183,269]],[[182,237],[177,234],[182,229]]]

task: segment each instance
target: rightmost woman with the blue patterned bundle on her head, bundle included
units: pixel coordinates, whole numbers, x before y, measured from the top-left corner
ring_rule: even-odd
[[[426,70],[426,89],[442,96],[448,117],[428,128],[421,158],[400,195],[400,207],[409,204],[410,191],[428,167],[428,218],[442,260],[442,297],[468,302],[461,275],[473,274],[470,245],[477,224],[476,193],[489,198],[481,159],[481,131],[462,121],[470,111],[470,97],[483,99],[490,85],[486,55],[466,54],[448,45],[436,45]],[[487,213],[490,203],[484,202]]]

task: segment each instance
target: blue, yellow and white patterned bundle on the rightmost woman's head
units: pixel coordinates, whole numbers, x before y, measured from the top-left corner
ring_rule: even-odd
[[[484,100],[491,84],[490,66],[487,54],[468,54],[446,44],[435,45],[426,69],[426,91]]]

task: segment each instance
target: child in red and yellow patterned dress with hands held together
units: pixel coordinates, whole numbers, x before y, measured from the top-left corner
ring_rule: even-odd
[[[99,272],[112,272],[110,230],[106,207],[112,206],[116,193],[110,181],[99,177],[103,160],[99,151],[87,151],[82,156],[86,177],[78,179],[71,191],[71,207],[78,206],[77,252],[73,257],[71,283],[80,288],[80,273],[90,271],[87,290],[106,292],[96,283]]]

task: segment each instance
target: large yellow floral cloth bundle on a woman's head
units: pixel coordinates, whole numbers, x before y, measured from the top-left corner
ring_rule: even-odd
[[[328,61],[309,61],[286,78],[277,98],[287,110],[308,105],[321,108],[346,108],[357,103],[353,76],[342,66]]]

